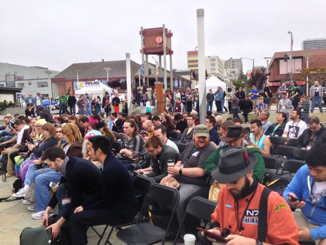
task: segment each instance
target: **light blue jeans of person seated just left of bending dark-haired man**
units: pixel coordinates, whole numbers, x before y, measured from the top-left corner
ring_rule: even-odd
[[[43,170],[43,174],[41,171]],[[61,171],[56,172],[55,169],[49,167],[36,170],[33,174],[34,188],[35,188],[35,203],[36,211],[40,212],[46,209],[49,197],[50,182],[58,183],[61,179]]]

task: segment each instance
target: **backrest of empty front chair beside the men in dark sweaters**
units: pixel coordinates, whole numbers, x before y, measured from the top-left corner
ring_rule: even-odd
[[[157,183],[154,183],[149,187],[146,196],[161,205],[167,206],[176,206],[175,204],[179,202],[180,198],[177,189]]]

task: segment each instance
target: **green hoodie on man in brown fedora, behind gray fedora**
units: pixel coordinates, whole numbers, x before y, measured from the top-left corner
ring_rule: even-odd
[[[207,158],[207,160],[204,164],[204,170],[207,175],[210,175],[212,169],[215,167],[215,165],[217,165],[219,163],[220,151],[225,148],[228,148],[228,147],[229,146],[227,144],[219,147],[218,149],[216,149],[216,151],[212,155],[210,155]],[[263,158],[261,157],[260,151],[259,151],[259,149],[255,148],[253,146],[244,145],[244,147],[246,148],[248,153],[254,154],[257,158],[256,165],[253,168],[253,170],[254,170],[253,178],[258,183],[261,183],[263,181],[263,177],[264,177],[264,173],[265,173],[265,162],[264,162]],[[219,181],[219,180],[217,180],[217,181]]]

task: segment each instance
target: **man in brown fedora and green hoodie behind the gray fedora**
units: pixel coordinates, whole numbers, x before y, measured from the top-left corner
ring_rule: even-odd
[[[215,152],[210,155],[205,162],[204,169],[207,175],[211,174],[212,169],[215,167],[216,163],[219,162],[220,153],[223,149],[230,148],[232,146],[244,146],[247,152],[255,155],[257,159],[256,164],[253,167],[253,178],[259,183],[262,182],[265,173],[265,163],[261,157],[259,149],[244,142],[244,138],[246,137],[247,132],[248,129],[243,129],[241,126],[231,125],[228,127],[227,134],[220,136],[220,139],[227,142],[227,144],[216,149]]]

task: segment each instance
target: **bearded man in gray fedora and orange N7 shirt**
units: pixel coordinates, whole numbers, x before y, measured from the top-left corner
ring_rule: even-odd
[[[255,165],[256,156],[242,146],[220,152],[211,175],[225,186],[208,231],[228,234],[226,240],[232,244],[298,244],[298,228],[289,205],[277,192],[256,182]],[[216,241],[202,236],[199,238],[206,240],[205,244]]]

